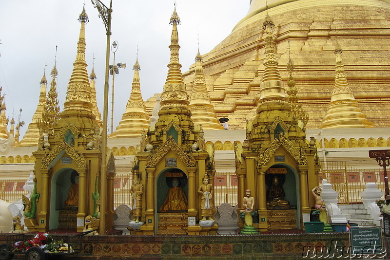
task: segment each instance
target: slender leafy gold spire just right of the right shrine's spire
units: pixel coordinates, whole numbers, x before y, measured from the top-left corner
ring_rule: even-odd
[[[289,42],[290,45],[290,42]],[[297,95],[298,90],[295,88],[295,79],[292,75],[292,71],[294,70],[294,63],[292,62],[292,59],[289,54],[289,62],[287,63],[287,71],[289,72],[289,78],[287,80],[287,86],[288,89],[286,93],[288,94],[288,101],[290,103],[291,112],[292,114],[298,119],[301,120],[304,126],[309,121],[309,115],[305,111],[305,109],[302,107],[302,104],[299,103],[299,97]]]

